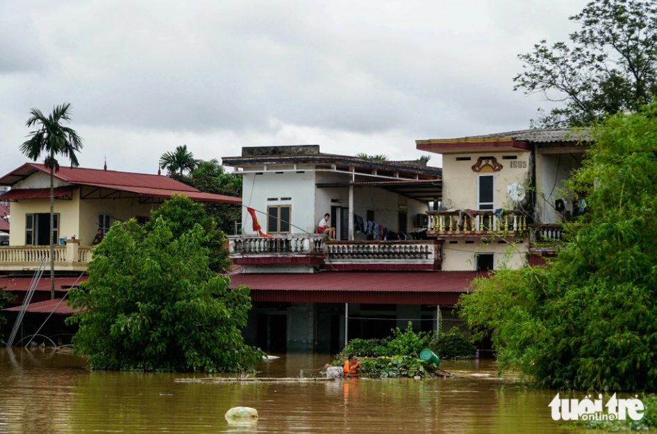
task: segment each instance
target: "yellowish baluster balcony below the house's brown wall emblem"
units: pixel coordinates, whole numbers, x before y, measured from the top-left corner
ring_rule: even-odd
[[[429,234],[444,236],[525,236],[529,229],[527,217],[517,211],[504,211],[496,216],[493,211],[427,211]]]

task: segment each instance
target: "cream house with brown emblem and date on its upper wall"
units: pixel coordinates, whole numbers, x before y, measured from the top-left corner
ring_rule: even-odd
[[[581,166],[590,131],[522,130],[417,140],[442,155],[442,203],[430,211],[443,270],[540,264],[561,225],[584,211],[564,181]]]

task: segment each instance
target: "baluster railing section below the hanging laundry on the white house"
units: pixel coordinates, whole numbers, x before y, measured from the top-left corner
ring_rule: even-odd
[[[440,242],[326,241],[326,269],[439,270]]]

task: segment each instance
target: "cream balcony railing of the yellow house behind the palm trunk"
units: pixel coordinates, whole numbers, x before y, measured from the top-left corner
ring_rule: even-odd
[[[85,271],[91,261],[91,247],[81,246],[79,240],[67,240],[66,245],[55,246],[54,257],[56,271]],[[1,271],[36,270],[42,259],[45,259],[45,267],[49,269],[49,245],[0,247]]]

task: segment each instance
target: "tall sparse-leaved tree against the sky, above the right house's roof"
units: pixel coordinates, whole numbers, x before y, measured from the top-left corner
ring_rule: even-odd
[[[539,110],[538,126],[587,125],[650,103],[657,90],[656,0],[595,0],[569,19],[582,26],[569,43],[542,40],[518,55],[524,71],[513,89],[563,103]]]

